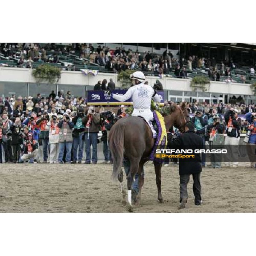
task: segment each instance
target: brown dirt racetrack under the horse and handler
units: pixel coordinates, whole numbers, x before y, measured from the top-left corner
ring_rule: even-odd
[[[178,167],[162,168],[165,203],[159,204],[154,166],[148,163],[141,205],[134,212],[256,212],[256,169],[241,168],[203,169],[203,205],[193,204],[191,177],[187,208],[178,210]],[[111,165],[100,163],[1,164],[0,212],[127,212],[111,172]]]

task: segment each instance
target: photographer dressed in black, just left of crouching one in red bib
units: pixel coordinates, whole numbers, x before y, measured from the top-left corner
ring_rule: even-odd
[[[11,125],[10,130],[12,131],[12,152],[13,152],[13,163],[17,163],[20,158],[20,151],[22,145],[22,124],[20,118],[16,117],[15,123]]]

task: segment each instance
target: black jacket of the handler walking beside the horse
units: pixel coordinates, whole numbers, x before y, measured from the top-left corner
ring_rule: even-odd
[[[195,134],[193,131],[187,131],[180,134],[178,137],[173,137],[170,143],[168,143],[170,149],[192,149],[195,158],[179,158],[179,173],[194,174],[202,171],[200,154],[194,153],[195,149],[203,149],[202,137]],[[190,161],[191,159],[191,161]]]

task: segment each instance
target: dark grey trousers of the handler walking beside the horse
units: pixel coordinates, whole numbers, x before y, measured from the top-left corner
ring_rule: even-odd
[[[201,183],[200,183],[201,172],[192,174],[193,177],[193,193],[195,195],[195,203],[200,203],[201,198]],[[187,186],[189,183],[189,174],[180,175],[180,202],[182,198],[188,198]]]

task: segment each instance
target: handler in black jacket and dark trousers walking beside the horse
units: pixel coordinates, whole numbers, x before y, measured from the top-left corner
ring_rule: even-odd
[[[168,143],[169,148],[175,149],[203,149],[202,137],[195,134],[195,125],[192,122],[187,122],[185,125],[185,133],[180,134],[178,137],[172,138],[171,142]],[[195,158],[189,161],[188,158],[180,158],[179,174],[180,174],[180,207],[179,209],[185,208],[188,192],[187,185],[189,183],[189,176],[193,176],[193,193],[195,195],[195,205],[201,205],[201,183],[200,175],[202,171],[201,157],[200,154],[193,153]]]

